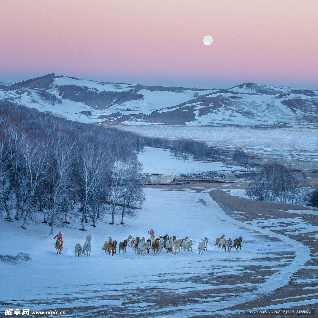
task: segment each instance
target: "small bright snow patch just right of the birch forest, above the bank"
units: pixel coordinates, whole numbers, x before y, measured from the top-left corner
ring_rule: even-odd
[[[138,159],[143,165],[143,173],[151,174],[191,175],[202,171],[214,171],[219,174],[235,175],[250,171],[245,167],[226,166],[222,162],[202,162],[194,159],[183,161],[176,159],[169,150],[150,147],[145,147],[145,151],[138,154]]]

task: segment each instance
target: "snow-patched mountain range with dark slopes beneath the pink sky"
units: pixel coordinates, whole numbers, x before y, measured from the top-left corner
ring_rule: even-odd
[[[318,91],[253,83],[197,89],[48,74],[0,82],[0,99],[92,123],[318,127]]]

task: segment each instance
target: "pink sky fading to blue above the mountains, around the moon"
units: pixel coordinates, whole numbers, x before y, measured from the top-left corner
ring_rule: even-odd
[[[317,56],[317,0],[0,1],[2,81],[318,90]]]

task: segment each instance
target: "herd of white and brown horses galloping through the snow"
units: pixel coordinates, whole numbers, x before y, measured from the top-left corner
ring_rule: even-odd
[[[204,251],[207,251],[206,246],[209,243],[209,239],[207,237],[204,237],[201,239],[201,241],[198,244],[197,250],[199,250],[199,254],[203,254]],[[74,253],[79,257],[79,255],[84,254],[87,256],[91,255],[91,245],[92,245],[92,234],[89,234],[86,236],[85,243],[83,244],[83,248],[80,245],[80,243],[77,243],[75,245]],[[149,239],[146,239],[144,236],[142,238],[136,236],[133,238],[131,235],[128,236],[127,239],[124,239],[122,242],[119,243],[119,253],[126,252],[127,247],[131,248],[135,251],[136,255],[143,254],[146,255],[149,254],[149,251],[153,251],[154,254],[159,254],[163,250],[166,250],[167,253],[171,252],[176,255],[177,251],[180,253],[180,251],[185,252],[192,252],[192,245],[193,241],[192,239],[185,237],[184,239],[177,239],[176,236],[169,237],[168,234],[165,235],[159,235],[158,237],[155,237],[155,235],[151,235]],[[221,250],[225,250],[226,248],[230,252],[230,249],[232,250],[232,247],[235,247],[236,251],[239,251],[242,249],[242,237],[239,236],[239,238],[234,240],[234,244],[232,246],[232,240],[231,238],[226,239],[225,235],[222,234],[219,238],[216,239],[216,242],[214,245],[217,245],[218,248]],[[56,245],[56,252],[61,254],[61,242],[60,239],[57,240]],[[116,254],[117,250],[117,241],[113,240],[111,237],[104,243],[103,247],[101,247],[102,250],[105,251],[105,253],[112,253],[112,256]],[[89,253],[88,253],[89,252]]]

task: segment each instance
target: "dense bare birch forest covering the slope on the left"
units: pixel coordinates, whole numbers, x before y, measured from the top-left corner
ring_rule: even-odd
[[[0,209],[22,228],[105,215],[133,217],[144,201],[134,134],[0,101]]]

